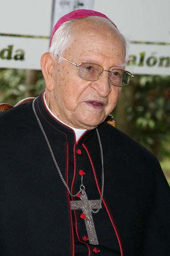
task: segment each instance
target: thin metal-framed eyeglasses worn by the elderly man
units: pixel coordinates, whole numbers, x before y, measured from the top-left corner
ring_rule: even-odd
[[[109,70],[105,70],[100,65],[89,63],[89,62],[81,63],[78,65],[70,60],[67,60],[61,57],[60,55],[57,55],[57,56],[62,58],[63,60],[68,61],[72,65],[78,67],[79,77],[87,81],[97,81],[102,76],[103,71],[106,71],[109,73],[108,75],[109,83],[111,83],[114,86],[124,87],[128,85],[130,82],[130,79],[134,77],[129,71],[124,69],[114,68],[111,71],[109,71]]]

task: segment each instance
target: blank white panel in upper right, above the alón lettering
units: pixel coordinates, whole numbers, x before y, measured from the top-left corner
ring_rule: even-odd
[[[131,41],[170,43],[169,0],[95,0],[94,10],[105,13]]]

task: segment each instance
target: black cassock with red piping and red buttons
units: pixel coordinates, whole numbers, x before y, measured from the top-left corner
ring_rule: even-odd
[[[100,198],[101,157],[96,130],[75,142],[72,129],[56,121],[43,102],[37,115],[63,178],[73,194],[83,185]],[[1,256],[168,256],[169,186],[154,155],[121,131],[98,126],[104,155],[102,209],[92,213],[99,244],[90,244],[82,210],[72,210],[32,102],[0,114]]]

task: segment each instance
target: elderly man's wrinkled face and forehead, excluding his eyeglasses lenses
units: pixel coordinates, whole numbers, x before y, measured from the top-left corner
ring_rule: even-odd
[[[92,62],[105,70],[124,69],[125,46],[122,39],[106,27],[96,29],[90,23],[75,28],[73,43],[62,57],[77,64]],[[57,57],[59,58],[59,57]],[[78,76],[78,67],[60,59],[53,66],[53,97],[49,108],[61,121],[78,129],[91,130],[105,120],[116,106],[121,87],[108,82],[108,72],[97,81]]]

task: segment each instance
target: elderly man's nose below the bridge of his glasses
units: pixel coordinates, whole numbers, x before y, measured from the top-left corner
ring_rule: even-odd
[[[108,73],[103,72],[97,81],[92,81],[90,86],[97,91],[100,97],[107,97],[111,92],[111,85],[109,84]]]

